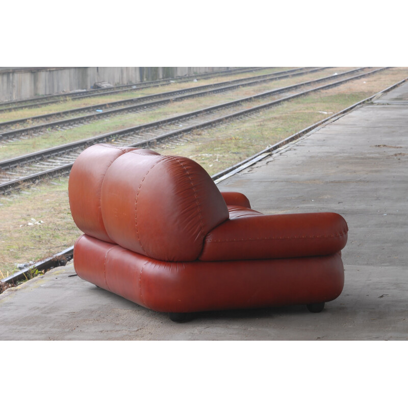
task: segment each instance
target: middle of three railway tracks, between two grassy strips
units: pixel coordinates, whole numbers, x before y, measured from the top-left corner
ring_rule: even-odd
[[[99,120],[108,116],[144,110],[146,107],[162,106],[174,100],[182,100],[184,98],[205,96],[210,93],[221,93],[234,90],[238,87],[256,86],[261,83],[277,81],[284,78],[296,77],[307,73],[313,73],[327,69],[327,67],[316,67],[311,69],[299,68],[286,71],[273,72],[270,74],[259,75],[257,77],[249,77],[233,81],[226,81],[210,85],[202,85],[197,87],[190,87],[176,91],[162,92],[137,98],[122,99],[119,101],[91,105],[78,109],[70,109],[67,111],[60,111],[39,116],[32,116],[23,119],[15,119],[7,122],[0,122],[0,141],[15,140],[18,136],[23,135],[38,135],[45,131],[54,129],[67,129],[67,126],[81,125],[90,123],[94,120]],[[182,97],[183,95],[184,98]],[[156,101],[156,104],[150,104]],[[98,113],[95,113],[98,112]],[[86,115],[87,113],[91,114]],[[81,115],[74,116],[72,115]],[[52,122],[52,120],[58,119]],[[39,122],[36,124],[36,122]],[[19,127],[22,126],[22,127]],[[17,129],[16,129],[17,127]]]

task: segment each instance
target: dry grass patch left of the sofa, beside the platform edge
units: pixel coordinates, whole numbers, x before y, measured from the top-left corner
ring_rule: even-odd
[[[43,182],[13,196],[0,196],[0,271],[39,261],[73,245],[81,232],[69,210],[68,179]]]

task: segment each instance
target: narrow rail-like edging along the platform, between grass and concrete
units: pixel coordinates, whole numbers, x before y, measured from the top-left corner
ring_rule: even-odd
[[[306,127],[305,129],[294,133],[293,135],[287,137],[286,139],[275,143],[273,146],[267,147],[261,151],[259,151],[258,153],[256,153],[255,155],[239,162],[236,163],[235,165],[228,167],[216,174],[213,174],[211,176],[211,178],[214,180],[214,182],[216,184],[220,183],[221,181],[225,180],[227,177],[230,177],[236,173],[238,173],[239,171],[251,166],[254,163],[257,163],[258,161],[264,159],[265,157],[273,154],[273,152],[281,150],[282,148],[284,148],[285,146],[287,146],[290,143],[295,142],[297,139],[301,138],[302,136],[307,136],[311,131],[313,131],[314,129],[316,129],[317,127],[323,125],[324,123],[327,123],[329,121],[335,121],[340,119],[342,116],[344,116],[346,113],[348,113],[349,111],[355,109],[356,107],[359,107],[363,104],[366,104],[367,102],[371,101],[372,99],[376,98],[379,95],[382,95],[384,93],[387,93],[389,91],[391,91],[392,89],[396,88],[397,86],[403,84],[404,82],[408,81],[408,78],[405,78],[391,86],[389,86],[388,88],[379,91],[377,93],[375,93],[372,96],[369,96],[365,99],[360,100],[359,102],[335,113],[334,115],[331,115],[325,119],[320,120],[319,122],[316,122],[314,124],[312,124],[311,126]],[[25,268],[24,271],[19,271],[16,272],[13,275],[10,275],[4,279],[1,280],[1,282],[3,283],[14,283],[17,282],[19,279],[21,279],[24,276],[24,273],[29,272],[30,269],[37,269],[39,271],[43,271],[43,270],[48,270],[51,269],[53,267],[57,267],[60,264],[60,258],[65,256],[67,260],[72,259],[73,257],[73,246],[70,246],[69,248],[55,254],[53,257],[47,258],[44,261],[40,261],[34,265],[32,265],[31,267]],[[54,263],[51,264],[50,260],[54,260]]]

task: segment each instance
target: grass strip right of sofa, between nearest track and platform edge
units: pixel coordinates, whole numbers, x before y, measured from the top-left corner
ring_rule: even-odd
[[[406,68],[382,71],[278,105],[257,118],[197,131],[193,142],[152,148],[163,155],[190,157],[215,174],[407,76]]]

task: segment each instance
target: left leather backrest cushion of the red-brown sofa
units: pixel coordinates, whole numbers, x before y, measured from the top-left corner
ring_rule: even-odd
[[[134,147],[96,144],[85,149],[75,160],[69,174],[68,195],[72,218],[85,234],[112,242],[100,210],[100,190],[109,166]]]

